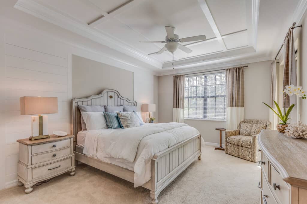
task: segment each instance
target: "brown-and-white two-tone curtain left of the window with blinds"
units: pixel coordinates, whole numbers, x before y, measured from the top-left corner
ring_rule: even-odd
[[[183,123],[185,75],[173,76],[173,122]]]

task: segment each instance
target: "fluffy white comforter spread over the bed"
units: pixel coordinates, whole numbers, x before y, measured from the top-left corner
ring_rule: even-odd
[[[83,153],[104,160],[117,158],[127,169],[134,163],[134,187],[150,180],[153,155],[199,132],[183,123],[160,123],[112,131],[93,130],[86,134]],[[130,164],[130,165],[125,165]]]

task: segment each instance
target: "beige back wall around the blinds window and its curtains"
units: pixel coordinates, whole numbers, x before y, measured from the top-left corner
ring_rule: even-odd
[[[269,119],[269,110],[262,102],[270,101],[271,61],[248,64],[244,69],[245,77],[245,113],[246,119]],[[173,75],[159,76],[159,122],[173,120]],[[215,128],[226,128],[225,121],[185,120],[185,123],[195,127],[203,136],[205,142],[219,143],[219,132]],[[224,141],[224,133],[222,143]]]

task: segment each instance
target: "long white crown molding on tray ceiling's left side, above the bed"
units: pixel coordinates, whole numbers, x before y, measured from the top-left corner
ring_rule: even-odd
[[[80,22],[77,22],[76,20],[58,13],[53,9],[47,8],[46,6],[34,2],[33,0],[18,0],[14,8],[19,9],[25,13],[29,13],[40,19],[46,20],[52,24],[60,26],[61,28],[67,29],[83,37],[94,40],[95,42],[108,46],[140,61],[146,62],[157,69],[162,68],[161,61],[152,59],[143,51],[137,50],[111,35],[98,32],[96,29],[91,28],[88,25],[81,24]]]

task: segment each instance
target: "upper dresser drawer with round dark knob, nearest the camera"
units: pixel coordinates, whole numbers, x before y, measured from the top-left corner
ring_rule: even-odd
[[[273,165],[271,166],[271,186],[275,197],[280,203],[290,203],[290,188],[287,183],[282,180],[282,177],[276,171]]]

